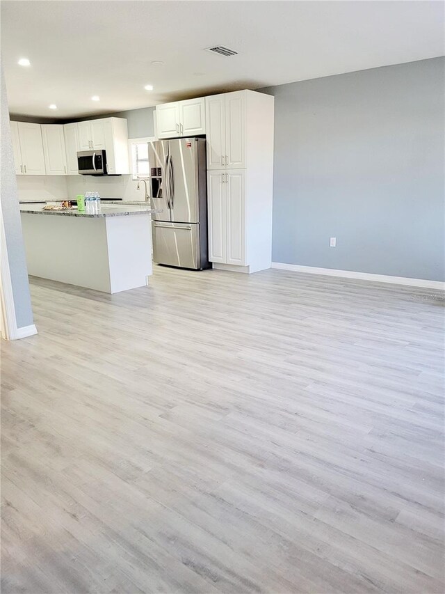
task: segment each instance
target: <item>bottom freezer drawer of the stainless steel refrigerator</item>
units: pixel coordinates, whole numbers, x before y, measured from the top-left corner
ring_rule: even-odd
[[[200,225],[153,221],[153,260],[156,264],[200,268]]]

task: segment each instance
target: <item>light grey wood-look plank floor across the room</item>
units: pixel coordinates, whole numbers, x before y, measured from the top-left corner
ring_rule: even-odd
[[[439,293],[160,267],[31,290],[3,594],[444,591]]]

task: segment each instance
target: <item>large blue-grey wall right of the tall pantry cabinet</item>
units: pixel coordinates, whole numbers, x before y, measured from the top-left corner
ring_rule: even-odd
[[[261,89],[275,96],[274,262],[445,280],[444,68]]]

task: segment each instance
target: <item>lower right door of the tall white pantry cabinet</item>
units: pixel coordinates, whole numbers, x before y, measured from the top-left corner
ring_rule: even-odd
[[[225,173],[227,202],[227,264],[245,266],[245,174],[241,170]]]

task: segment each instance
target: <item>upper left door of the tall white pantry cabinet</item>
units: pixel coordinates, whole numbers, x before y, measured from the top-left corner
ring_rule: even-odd
[[[225,95],[206,97],[207,169],[225,167]]]

